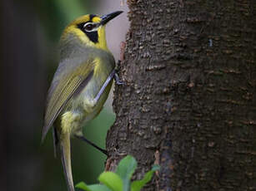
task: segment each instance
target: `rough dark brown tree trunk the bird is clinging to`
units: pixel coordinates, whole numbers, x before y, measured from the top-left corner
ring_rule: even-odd
[[[256,3],[130,0],[108,131],[109,169],[125,154],[143,190],[256,190]]]

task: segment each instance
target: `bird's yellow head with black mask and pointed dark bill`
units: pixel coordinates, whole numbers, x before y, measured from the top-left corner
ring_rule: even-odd
[[[65,28],[62,39],[66,41],[68,35],[72,34],[73,37],[78,37],[78,40],[87,46],[108,50],[105,25],[121,13],[122,11],[118,11],[102,17],[93,14],[78,17]]]

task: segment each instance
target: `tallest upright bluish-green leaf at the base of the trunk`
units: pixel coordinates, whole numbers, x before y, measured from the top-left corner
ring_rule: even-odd
[[[128,191],[130,186],[130,179],[134,173],[134,170],[137,168],[136,159],[131,155],[123,158],[118,164],[116,174],[118,174],[121,179],[123,179],[123,191]]]

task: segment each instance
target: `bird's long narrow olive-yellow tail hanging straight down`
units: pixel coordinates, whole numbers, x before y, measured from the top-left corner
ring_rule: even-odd
[[[61,154],[62,154],[63,171],[65,174],[65,179],[68,184],[68,191],[74,191],[75,189],[73,187],[69,133],[61,135],[60,149],[61,149]]]

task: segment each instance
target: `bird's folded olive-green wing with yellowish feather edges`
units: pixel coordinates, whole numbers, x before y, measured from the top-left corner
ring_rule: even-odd
[[[48,91],[42,141],[63,107],[67,105],[68,100],[82,91],[93,76],[95,61],[86,61],[74,68],[71,67],[73,63],[68,62],[63,66],[58,66],[58,71],[53,77],[52,85]]]

